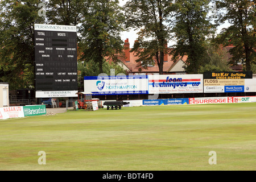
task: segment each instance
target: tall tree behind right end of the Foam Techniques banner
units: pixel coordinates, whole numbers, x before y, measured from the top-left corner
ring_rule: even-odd
[[[177,0],[175,3],[174,36],[176,44],[172,46],[172,59],[187,55],[185,71],[198,73],[203,65],[203,55],[206,51],[205,39],[213,31],[208,12],[209,0]]]

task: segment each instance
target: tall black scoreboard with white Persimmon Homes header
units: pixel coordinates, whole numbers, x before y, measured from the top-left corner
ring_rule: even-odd
[[[36,98],[77,97],[76,26],[35,24]]]

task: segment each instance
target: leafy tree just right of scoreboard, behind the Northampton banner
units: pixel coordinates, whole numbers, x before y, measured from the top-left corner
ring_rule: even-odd
[[[103,73],[105,59],[117,61],[123,52],[123,15],[117,0],[90,1],[83,11],[85,15],[80,27],[79,48],[82,61],[93,60]]]

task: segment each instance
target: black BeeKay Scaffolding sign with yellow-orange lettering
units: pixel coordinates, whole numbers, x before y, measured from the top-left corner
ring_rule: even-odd
[[[204,72],[204,79],[244,79],[253,78],[253,72]]]

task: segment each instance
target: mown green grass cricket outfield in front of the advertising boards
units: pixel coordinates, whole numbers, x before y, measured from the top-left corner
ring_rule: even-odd
[[[256,170],[256,103],[7,119],[0,147],[0,170]],[[38,164],[39,151],[46,165]],[[210,151],[216,165],[208,163]]]

